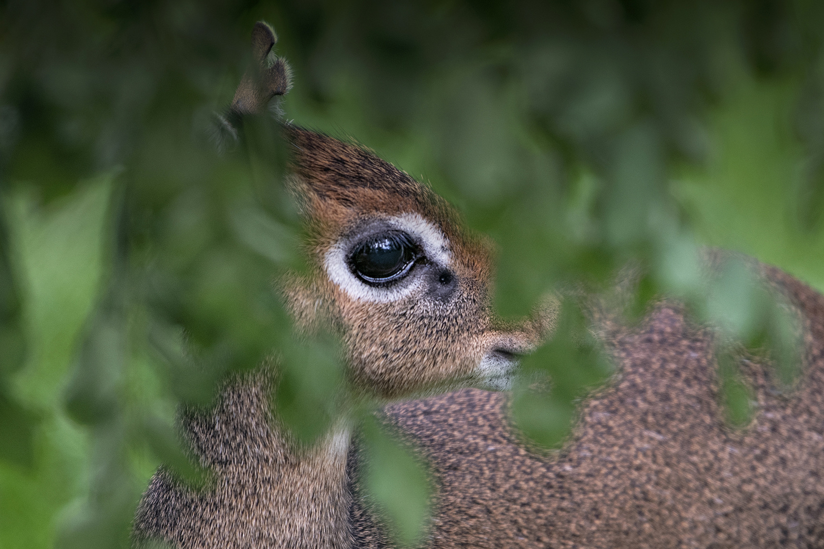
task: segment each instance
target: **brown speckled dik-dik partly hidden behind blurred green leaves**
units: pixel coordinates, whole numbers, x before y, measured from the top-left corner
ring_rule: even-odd
[[[255,26],[255,52],[274,35]],[[288,89],[277,60],[239,88],[232,118]],[[517,326],[489,310],[491,261],[441,198],[369,151],[293,125],[293,179],[311,240],[311,275],[284,281],[296,322],[337,327],[351,386],[394,399],[383,412],[428,460],[435,486],[427,547],[824,546],[824,297],[759,268],[802,327],[802,373],[775,391],[745,361],[758,406],[743,430],[718,404],[714,335],[662,301],[638,328],[605,322],[616,363],[579,405],[558,454],[534,454],[508,421],[514,357],[552,314]],[[574,367],[570,365],[570,367]],[[272,412],[276,369],[227,381],[212,412],[184,414],[194,454],[214,473],[201,490],[152,479],[135,539],[175,547],[384,547],[358,490],[360,457],[346,421],[295,449]],[[353,495],[355,494],[355,495]]]

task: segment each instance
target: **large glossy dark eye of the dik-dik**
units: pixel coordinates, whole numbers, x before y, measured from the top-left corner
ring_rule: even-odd
[[[360,244],[349,263],[361,280],[370,284],[382,284],[404,277],[419,258],[418,246],[410,240],[409,235],[389,232]]]

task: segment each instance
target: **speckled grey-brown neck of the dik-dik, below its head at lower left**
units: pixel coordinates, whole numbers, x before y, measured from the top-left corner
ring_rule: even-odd
[[[195,490],[157,472],[134,521],[135,545],[351,546],[347,448],[335,433],[313,449],[284,436],[273,416],[274,379],[271,367],[235,376],[213,410],[183,414],[194,457],[213,478]]]

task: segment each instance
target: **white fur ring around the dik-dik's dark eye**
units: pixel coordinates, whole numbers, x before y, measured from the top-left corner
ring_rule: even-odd
[[[382,217],[380,221],[387,229],[400,230],[420,246],[429,263],[448,268],[452,263],[452,252],[446,236],[418,213],[405,213],[400,216]],[[335,282],[353,300],[372,303],[389,303],[405,298],[418,290],[421,281],[418,277],[405,277],[396,284],[386,287],[369,286],[356,277],[349,268],[348,254],[353,242],[344,238],[335,243],[325,254],[324,268],[331,281]]]

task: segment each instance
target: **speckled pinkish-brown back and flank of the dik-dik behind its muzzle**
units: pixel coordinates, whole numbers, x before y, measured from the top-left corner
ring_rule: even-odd
[[[788,395],[742,361],[757,400],[745,430],[719,410],[713,334],[672,304],[611,334],[618,373],[555,457],[519,444],[508,393],[387,407],[437,479],[428,547],[821,547],[824,297],[762,270],[801,319],[803,373]]]

